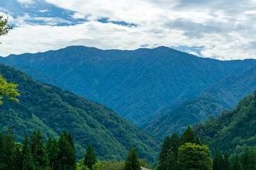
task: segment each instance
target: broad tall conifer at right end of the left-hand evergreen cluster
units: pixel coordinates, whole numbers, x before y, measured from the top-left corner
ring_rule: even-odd
[[[60,134],[57,142],[57,169],[76,170],[76,152],[68,140],[66,130]]]

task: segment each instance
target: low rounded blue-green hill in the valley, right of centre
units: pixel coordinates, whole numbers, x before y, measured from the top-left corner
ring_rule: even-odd
[[[145,127],[144,130],[161,140],[165,139],[167,135],[172,135],[174,132],[181,136],[188,125],[206,121],[209,115],[216,117],[225,109],[219,103],[206,98],[190,99],[170,113],[162,115],[161,118]]]

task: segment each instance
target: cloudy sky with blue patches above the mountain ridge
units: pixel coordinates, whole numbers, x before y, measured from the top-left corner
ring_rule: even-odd
[[[172,47],[218,60],[256,59],[256,0],[0,0],[13,29],[0,56],[70,45]]]

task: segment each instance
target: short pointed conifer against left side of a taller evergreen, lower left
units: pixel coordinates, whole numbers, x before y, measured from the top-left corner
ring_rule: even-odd
[[[33,155],[31,153],[30,144],[26,145],[26,150],[23,155],[22,170],[35,170],[35,164],[33,162]]]

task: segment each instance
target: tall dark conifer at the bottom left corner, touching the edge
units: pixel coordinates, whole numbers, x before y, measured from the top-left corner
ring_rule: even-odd
[[[14,137],[11,134],[11,127],[4,137],[2,148],[1,148],[1,158],[0,158],[0,169],[1,170],[15,170],[15,142]]]

